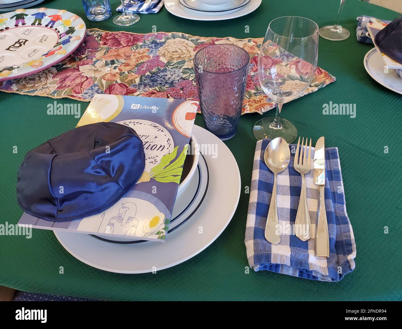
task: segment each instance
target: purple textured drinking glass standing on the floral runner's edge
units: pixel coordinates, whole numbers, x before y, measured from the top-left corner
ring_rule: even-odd
[[[236,134],[250,56],[234,45],[211,45],[194,56],[195,81],[205,126],[225,141]]]

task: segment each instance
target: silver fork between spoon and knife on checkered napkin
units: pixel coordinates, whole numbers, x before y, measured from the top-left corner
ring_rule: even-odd
[[[297,148],[295,153],[295,160],[293,167],[301,175],[301,192],[299,206],[297,207],[296,221],[295,221],[295,234],[301,241],[307,241],[311,237],[311,221],[310,213],[307,206],[307,189],[306,189],[306,174],[311,170],[311,138],[310,146],[308,147],[307,157],[307,141],[304,146],[304,137],[301,140],[301,151],[299,154],[299,141],[297,141]]]

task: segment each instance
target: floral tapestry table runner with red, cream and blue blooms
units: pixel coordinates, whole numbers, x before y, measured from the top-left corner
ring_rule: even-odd
[[[263,38],[195,37],[176,32],[136,34],[88,29],[84,41],[70,57],[39,73],[0,82],[0,91],[52,98],[69,97],[88,102],[96,93],[198,100],[193,56],[203,47],[227,43],[242,47],[250,54],[242,114],[262,114],[275,107],[258,81],[257,59],[262,42]],[[277,64],[277,60],[273,61],[273,65]],[[302,79],[303,67],[298,67],[298,63],[295,65]],[[279,73],[284,77],[293,74],[295,78],[292,80],[297,84],[297,76],[288,65],[283,65]],[[334,76],[317,67],[316,76],[304,95],[335,80]]]

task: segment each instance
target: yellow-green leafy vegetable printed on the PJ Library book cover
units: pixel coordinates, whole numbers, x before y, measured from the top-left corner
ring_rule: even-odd
[[[183,172],[183,163],[186,159],[186,153],[189,145],[183,147],[183,151],[176,158],[178,146],[174,148],[172,153],[165,154],[160,162],[150,170],[150,172],[144,171],[138,183],[149,182],[152,179],[161,183],[174,182],[179,184],[181,173]],[[174,161],[173,161],[174,160]],[[172,162],[173,161],[173,162]],[[172,162],[172,163],[171,163]]]

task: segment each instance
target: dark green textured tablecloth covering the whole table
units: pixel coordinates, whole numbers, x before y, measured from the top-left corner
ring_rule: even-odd
[[[113,14],[118,4],[111,1]],[[164,8],[158,14],[141,15],[137,24],[127,28],[113,25],[111,19],[85,22],[88,28],[107,31],[148,33],[155,25],[158,31],[192,35],[263,37],[268,23],[279,16],[305,16],[319,26],[333,24],[338,5],[339,0],[263,0],[253,13],[220,22],[186,20]],[[85,17],[80,0],[47,0],[38,6],[66,8]],[[336,76],[336,82],[285,104],[282,112],[296,125],[300,136],[312,137],[315,142],[325,135],[327,147],[339,148],[347,211],[357,245],[356,268],[342,281],[316,282],[252,270],[245,274],[249,195],[243,191],[251,181],[256,143],[252,126],[260,119],[258,114],[246,114],[237,135],[226,142],[242,178],[239,205],[227,229],[199,255],[157,274],[113,274],[76,260],[51,231],[35,230],[32,239],[0,236],[0,284],[29,292],[106,300],[400,300],[402,195],[397,168],[402,160],[402,98],[371,79],[363,67],[363,57],[373,45],[356,41],[356,17],[362,14],[386,20],[400,16],[367,2],[348,0],[341,24],[351,37],[340,42],[320,38],[318,65]],[[25,153],[72,129],[78,119],[47,115],[47,104],[53,102],[47,97],[0,92],[0,100],[0,224],[15,224],[23,213],[16,202],[15,185]],[[322,105],[330,101],[355,103],[356,118],[323,115]],[[81,104],[86,108],[87,103]],[[201,116],[197,116],[196,124],[203,126]],[[18,153],[13,153],[14,146]],[[388,153],[384,153],[385,146]],[[388,234],[384,233],[385,226]],[[64,274],[59,274],[59,266],[64,267]]]

